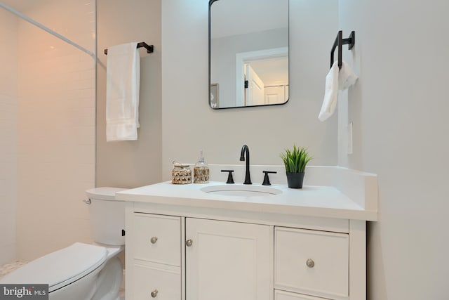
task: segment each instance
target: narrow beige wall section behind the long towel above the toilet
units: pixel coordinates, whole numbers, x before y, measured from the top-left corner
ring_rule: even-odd
[[[103,49],[131,41],[140,51],[140,128],[137,141],[106,142],[106,65]],[[161,0],[98,0],[97,186],[135,188],[161,181]]]

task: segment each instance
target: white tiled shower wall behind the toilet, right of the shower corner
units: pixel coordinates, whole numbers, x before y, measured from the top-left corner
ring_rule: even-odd
[[[91,1],[45,1],[29,17],[94,51]],[[91,242],[85,190],[95,184],[95,62],[18,21],[17,256]]]

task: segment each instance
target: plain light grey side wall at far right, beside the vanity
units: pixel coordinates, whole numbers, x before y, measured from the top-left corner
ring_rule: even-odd
[[[448,15],[443,0],[340,0],[360,79],[349,92],[354,155],[339,161],[379,176],[370,300],[448,299]]]

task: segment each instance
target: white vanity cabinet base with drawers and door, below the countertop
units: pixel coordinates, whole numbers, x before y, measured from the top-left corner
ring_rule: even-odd
[[[126,299],[365,299],[365,222],[151,207],[127,207]]]

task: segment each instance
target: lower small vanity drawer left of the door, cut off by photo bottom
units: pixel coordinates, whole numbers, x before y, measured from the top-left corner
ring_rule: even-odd
[[[161,270],[148,266],[134,266],[134,300],[181,299],[181,274],[177,270]]]

